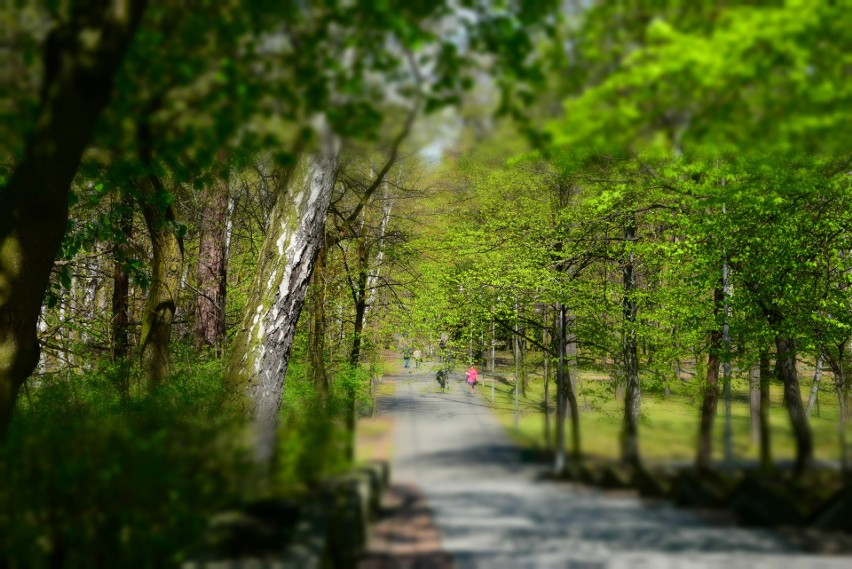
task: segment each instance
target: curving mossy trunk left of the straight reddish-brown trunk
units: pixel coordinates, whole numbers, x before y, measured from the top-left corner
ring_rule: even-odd
[[[142,312],[139,358],[149,389],[169,374],[169,343],[183,270],[183,240],[175,232],[169,192],[149,174],[140,182],[140,207],[151,237],[151,284]]]

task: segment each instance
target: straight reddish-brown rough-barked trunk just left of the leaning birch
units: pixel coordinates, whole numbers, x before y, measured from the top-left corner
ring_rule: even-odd
[[[220,156],[224,159],[224,156]],[[198,296],[195,337],[198,345],[222,356],[225,344],[227,284],[228,172],[201,193],[201,231],[198,248]]]

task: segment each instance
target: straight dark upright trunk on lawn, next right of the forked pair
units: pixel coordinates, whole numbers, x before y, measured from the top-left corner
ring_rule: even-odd
[[[624,241],[629,248],[636,240],[636,222],[630,219],[625,225]],[[624,285],[622,362],[624,366],[624,419],[621,431],[621,460],[631,466],[639,466],[639,413],[641,390],[639,386],[639,356],[636,343],[636,275],[633,251],[628,250],[624,259],[622,278]]]

